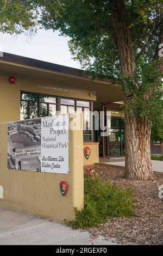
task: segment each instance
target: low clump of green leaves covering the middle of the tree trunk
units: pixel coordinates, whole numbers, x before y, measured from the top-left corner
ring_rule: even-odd
[[[136,63],[135,84],[126,78],[124,89],[133,98],[124,107],[124,112],[130,115],[145,117],[152,126],[162,126],[163,113],[163,83],[160,80],[162,70],[157,71],[158,62],[145,62],[140,58]],[[123,78],[124,79],[124,78]],[[158,128],[159,129],[159,128]]]

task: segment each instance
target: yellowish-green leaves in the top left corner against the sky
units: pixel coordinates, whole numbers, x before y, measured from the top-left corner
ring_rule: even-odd
[[[2,0],[0,2],[0,32],[32,35],[46,28],[48,21],[57,19],[65,8],[62,1]]]

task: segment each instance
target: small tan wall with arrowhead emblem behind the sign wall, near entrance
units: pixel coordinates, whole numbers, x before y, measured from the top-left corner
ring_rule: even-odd
[[[89,159],[86,159],[84,155],[84,148],[89,147],[91,149],[91,155]],[[89,166],[94,163],[99,163],[99,143],[98,142],[84,142],[83,145],[84,166]]]

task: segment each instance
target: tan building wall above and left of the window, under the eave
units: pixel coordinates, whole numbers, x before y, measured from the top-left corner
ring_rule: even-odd
[[[39,80],[15,75],[16,83],[11,84],[9,83],[11,75],[0,74],[0,123],[20,120],[21,91],[90,101],[96,100],[96,96],[89,95],[89,90],[74,88],[71,83],[67,82],[66,77],[55,82],[55,75],[53,81],[48,80],[48,77]]]

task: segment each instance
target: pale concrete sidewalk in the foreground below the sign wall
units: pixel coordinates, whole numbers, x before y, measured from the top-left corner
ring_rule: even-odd
[[[113,241],[92,239],[88,231],[0,208],[0,245],[116,245]]]

